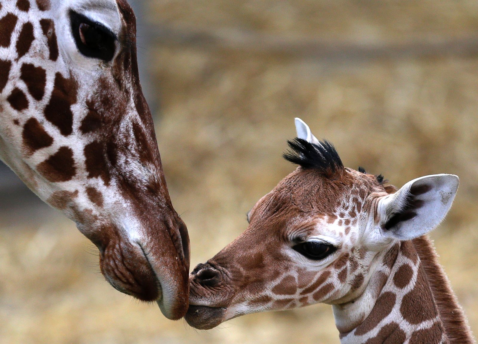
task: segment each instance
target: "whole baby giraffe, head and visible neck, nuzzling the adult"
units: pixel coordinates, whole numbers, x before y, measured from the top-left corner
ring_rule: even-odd
[[[342,344],[470,344],[466,318],[426,233],[443,220],[458,177],[397,190],[344,167],[299,118],[285,159],[299,167],[262,197],[249,227],[190,276],[187,322],[331,304]]]

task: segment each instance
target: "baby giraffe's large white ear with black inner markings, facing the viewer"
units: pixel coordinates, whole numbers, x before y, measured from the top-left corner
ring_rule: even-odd
[[[377,215],[382,233],[409,240],[434,229],[448,213],[458,182],[454,174],[429,175],[414,179],[395,194],[381,198]]]

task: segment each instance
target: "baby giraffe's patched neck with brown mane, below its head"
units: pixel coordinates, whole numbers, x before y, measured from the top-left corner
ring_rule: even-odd
[[[335,305],[342,344],[473,344],[435,249],[426,236],[383,256],[364,292]]]

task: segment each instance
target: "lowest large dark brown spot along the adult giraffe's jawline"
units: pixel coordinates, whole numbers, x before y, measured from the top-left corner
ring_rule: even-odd
[[[76,175],[73,150],[68,147],[60,149],[51,155],[47,160],[37,165],[37,170],[49,182],[67,182]]]

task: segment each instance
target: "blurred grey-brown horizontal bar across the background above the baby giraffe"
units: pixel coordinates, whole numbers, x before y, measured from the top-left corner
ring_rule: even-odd
[[[189,45],[200,49],[275,54],[293,58],[350,61],[378,58],[467,56],[478,54],[478,34],[466,37],[419,36],[393,42],[327,41],[282,37],[236,29],[201,31],[152,25],[148,30],[157,44]]]

